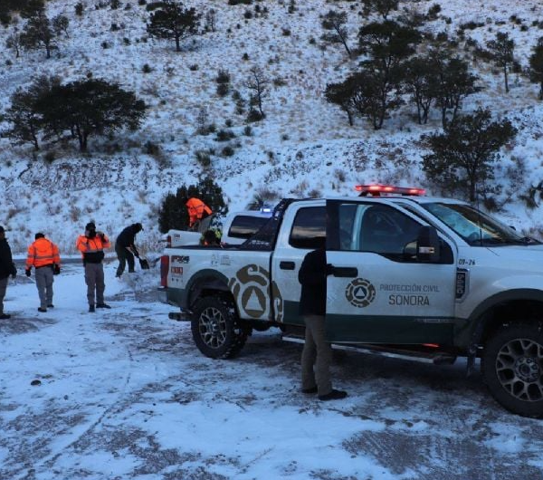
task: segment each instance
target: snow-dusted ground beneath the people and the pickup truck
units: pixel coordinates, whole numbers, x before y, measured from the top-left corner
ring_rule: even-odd
[[[0,478],[510,479],[543,476],[543,424],[500,408],[461,363],[336,352],[348,398],[300,393],[300,345],[256,333],[235,360],[196,350],[158,301],[156,269],[87,312],[81,264],[38,313],[11,281],[0,322]],[[21,272],[21,270],[20,270]]]

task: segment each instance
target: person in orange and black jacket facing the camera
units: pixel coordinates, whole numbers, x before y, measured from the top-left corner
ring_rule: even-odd
[[[77,239],[75,247],[81,252],[85,266],[85,283],[87,283],[87,300],[89,312],[96,312],[96,308],[111,308],[104,302],[104,248],[110,248],[110,239],[103,233],[96,231],[94,222],[85,226],[85,233]],[[96,302],[95,302],[96,292]]]

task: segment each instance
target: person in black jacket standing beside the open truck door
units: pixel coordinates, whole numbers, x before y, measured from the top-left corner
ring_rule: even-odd
[[[300,266],[300,315],[306,324],[305,343],[301,353],[301,391],[318,393],[319,400],[347,397],[347,392],[332,389],[330,363],[332,349],[326,339],[326,277],[330,265],[326,263],[326,239],[322,246],[306,254]],[[315,370],[313,370],[315,367]]]

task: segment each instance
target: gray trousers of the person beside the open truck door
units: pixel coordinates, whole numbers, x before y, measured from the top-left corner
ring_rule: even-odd
[[[326,340],[324,318],[321,315],[304,315],[303,317],[306,324],[306,338],[301,352],[301,388],[312,389],[316,385],[319,396],[332,391],[330,379],[332,348]]]

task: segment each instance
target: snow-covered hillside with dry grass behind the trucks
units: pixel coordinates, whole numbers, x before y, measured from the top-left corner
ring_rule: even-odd
[[[90,219],[110,235],[140,221],[146,227],[148,248],[157,249],[161,199],[181,184],[197,181],[202,172],[196,159],[199,150],[213,152],[208,173],[223,187],[231,210],[268,191],[278,197],[353,195],[360,182],[417,185],[433,192],[421,172],[424,152],[417,140],[440,129],[437,111],[421,127],[413,119],[414,106],[406,104],[386,120],[383,130],[374,131],[361,119],[349,127],[345,114],[324,99],[327,83],[344,80],[359,59],[349,59],[340,44],[322,43],[321,15],[330,8],[347,11],[348,42],[356,46],[364,21],[359,3],[296,0],[289,13],[291,2],[286,0],[252,5],[186,2],[202,14],[214,9],[216,31],[186,40],[180,53],[173,41],[148,37],[149,14],[137,0],[121,1],[118,9],[103,0],[86,0],[81,16],[75,14],[77,3],[47,2],[48,16],[64,14],[70,20],[69,37],[59,40],[51,59],[46,60],[42,50],[23,51],[19,58],[9,49],[0,51],[1,110],[18,87],[28,86],[37,75],[59,75],[70,82],[92,73],[134,91],[148,104],[147,117],[135,132],[90,139],[84,155],[75,144],[45,144],[33,152],[29,145],[14,146],[9,139],[0,139],[4,192],[0,225],[11,230],[15,252],[23,252],[37,231],[51,235],[62,252],[73,252],[76,236]],[[425,14],[436,3],[401,2],[400,14]],[[256,6],[267,13],[256,14]],[[424,24],[424,31],[454,36],[460,24],[475,22],[481,26],[465,30],[465,35],[480,46],[497,32],[507,32],[515,41],[522,69],[543,36],[543,5],[538,0],[449,0],[441,7],[437,19]],[[23,23],[19,20],[18,27]],[[14,26],[0,28],[0,44]],[[499,69],[475,62],[463,43],[460,48],[484,87],[465,101],[462,111],[488,106],[497,118],[507,117],[519,129],[497,166],[502,200],[507,200],[499,216],[540,235],[541,208],[527,210],[519,200],[530,185],[543,179],[538,85],[526,75],[512,73],[506,94]],[[214,79],[219,70],[229,72],[231,91],[247,99],[244,82],[255,66],[262,68],[271,88],[264,100],[266,119],[252,123],[247,135],[245,115],[236,113],[231,94],[217,94]],[[222,142],[216,134],[199,135],[198,119],[214,123],[217,130],[232,130],[235,137]],[[227,144],[232,156],[222,153]],[[159,151],[149,155],[146,145],[158,146]]]

